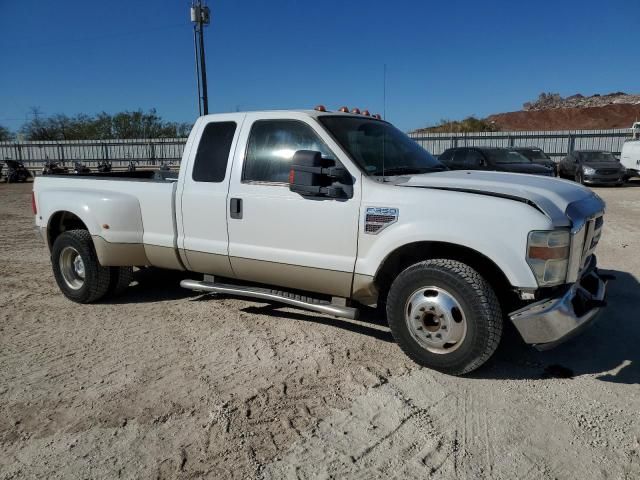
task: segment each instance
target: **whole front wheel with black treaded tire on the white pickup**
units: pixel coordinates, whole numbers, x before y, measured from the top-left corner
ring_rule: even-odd
[[[387,320],[409,358],[450,375],[480,367],[502,337],[495,292],[455,260],[426,260],[400,273],[387,297]]]

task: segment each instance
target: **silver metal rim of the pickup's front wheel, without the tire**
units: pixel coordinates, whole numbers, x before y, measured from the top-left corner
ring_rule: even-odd
[[[460,302],[440,287],[423,287],[411,294],[405,305],[409,333],[431,353],[456,351],[467,335],[467,319]]]

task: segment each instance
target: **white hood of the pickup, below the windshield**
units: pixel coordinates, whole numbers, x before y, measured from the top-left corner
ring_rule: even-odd
[[[518,173],[453,170],[397,177],[403,187],[453,190],[525,202],[546,214],[555,226],[570,226],[569,204],[596,196],[590,189],[566,180]],[[597,196],[596,196],[597,197]]]

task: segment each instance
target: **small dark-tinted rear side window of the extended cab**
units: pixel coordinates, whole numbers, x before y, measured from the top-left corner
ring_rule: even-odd
[[[222,182],[227,172],[235,122],[208,123],[204,127],[191,177],[196,182]]]

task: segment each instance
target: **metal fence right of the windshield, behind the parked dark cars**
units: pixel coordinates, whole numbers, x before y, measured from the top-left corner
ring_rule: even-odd
[[[559,160],[573,150],[606,150],[620,154],[631,138],[628,128],[613,130],[561,130],[477,133],[410,133],[416,142],[434,155],[452,147],[539,147]]]

